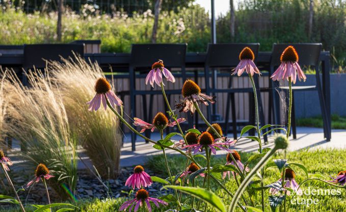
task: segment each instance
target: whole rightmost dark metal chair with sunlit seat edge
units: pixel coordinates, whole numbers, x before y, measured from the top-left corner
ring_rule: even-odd
[[[318,97],[320,100],[320,107],[322,111],[322,118],[323,118],[323,126],[324,126],[324,136],[327,139],[327,141],[330,141],[331,135],[330,135],[330,120],[331,115],[327,113],[325,99],[322,92],[322,86],[321,86],[321,80],[320,80],[320,72],[318,70],[318,61],[320,58],[321,50],[322,50],[322,44],[321,43],[297,43],[297,44],[273,44],[273,51],[272,51],[272,57],[271,57],[271,63],[270,63],[270,75],[274,73],[275,68],[277,68],[280,65],[280,56],[283,52],[283,50],[287,46],[294,46],[298,52],[299,55],[299,65],[301,67],[303,66],[313,66],[315,68],[316,74],[316,85],[314,86],[294,86],[292,85],[292,96],[293,96],[293,104],[292,104],[292,114],[291,114],[291,123],[292,123],[292,134],[293,138],[297,138],[297,130],[296,130],[296,118],[295,118],[295,103],[294,103],[294,93],[297,91],[317,91]],[[309,77],[309,76],[308,76]],[[279,88],[280,90],[284,92],[288,92],[288,87],[279,86],[278,82],[273,82],[272,80],[269,80],[269,86],[272,92],[270,92],[269,96],[269,117],[272,119],[272,113],[273,113],[273,119],[276,124],[280,124],[280,102],[279,98],[277,96],[277,91],[275,88]]]

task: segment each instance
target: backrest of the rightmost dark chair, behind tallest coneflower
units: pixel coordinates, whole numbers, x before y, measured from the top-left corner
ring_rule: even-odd
[[[280,65],[280,56],[287,46],[293,46],[297,50],[299,56],[299,65],[301,66],[317,66],[320,59],[322,43],[293,43],[293,44],[273,44],[271,67]]]

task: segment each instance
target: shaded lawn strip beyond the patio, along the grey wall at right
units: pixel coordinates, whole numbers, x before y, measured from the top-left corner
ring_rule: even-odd
[[[346,129],[346,117],[340,117],[339,115],[332,115],[332,129]],[[322,116],[316,116],[311,118],[297,119],[297,126],[308,127],[323,127]]]

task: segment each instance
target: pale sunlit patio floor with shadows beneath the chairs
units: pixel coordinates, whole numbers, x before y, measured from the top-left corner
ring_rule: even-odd
[[[233,135],[228,134],[230,138]],[[238,135],[240,136],[240,135]],[[161,150],[152,148],[151,143],[145,143],[140,137],[137,138],[136,142],[136,151],[131,151],[131,142],[130,134],[125,135],[124,146],[121,151],[121,161],[120,166],[134,166],[138,164],[143,164],[148,155],[160,154]],[[151,137],[153,140],[158,140],[159,134],[153,134]],[[292,137],[291,137],[292,138]],[[173,137],[175,139],[175,137]],[[178,139],[178,137],[177,137]],[[263,145],[263,147],[271,147],[274,145],[273,136],[268,138],[269,144]],[[297,127],[297,139],[290,140],[289,151],[296,151],[300,149],[315,149],[315,148],[346,148],[346,130],[332,130],[332,139],[330,142],[327,142],[323,138],[323,129],[322,128],[312,128],[312,127]],[[257,151],[258,144],[255,141],[249,139],[241,139],[235,145],[235,150],[237,151]],[[221,151],[222,154],[225,154],[225,151]],[[168,154],[179,154],[173,150],[166,150]]]

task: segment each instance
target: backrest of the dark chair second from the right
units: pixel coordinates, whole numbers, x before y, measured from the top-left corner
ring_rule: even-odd
[[[251,48],[256,60],[259,43],[208,44],[205,64],[209,67],[235,67],[239,63],[239,54],[245,47]]]

